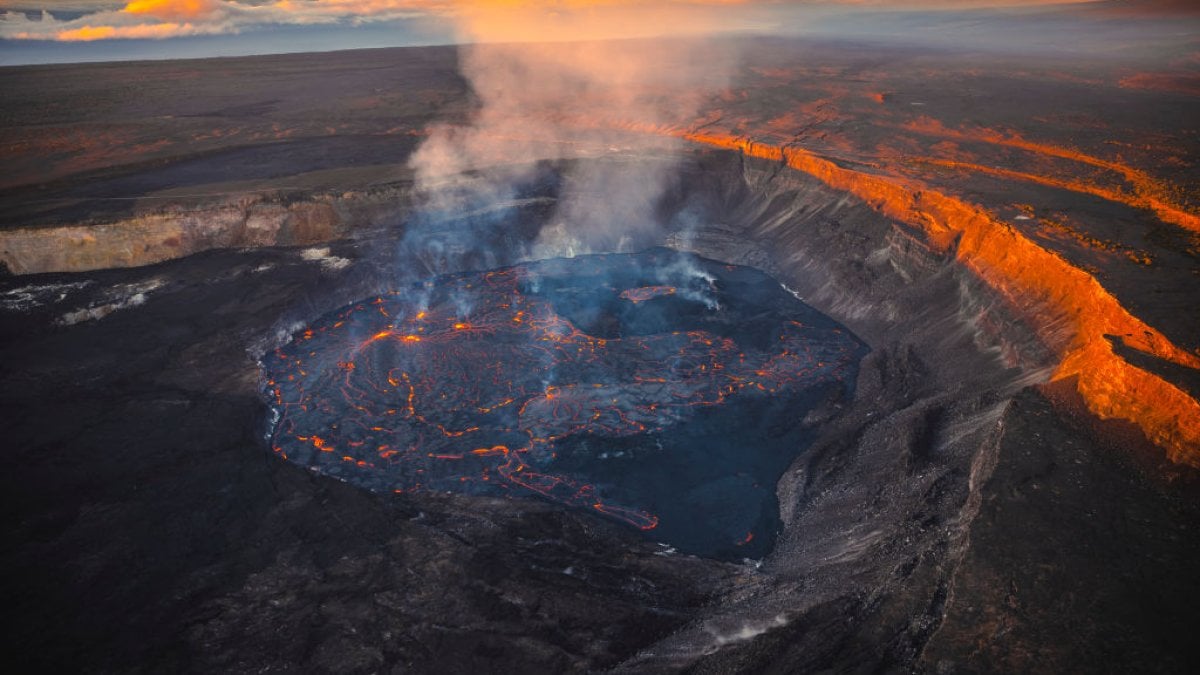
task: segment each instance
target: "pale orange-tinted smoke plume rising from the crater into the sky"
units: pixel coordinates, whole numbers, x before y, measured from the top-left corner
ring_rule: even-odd
[[[528,255],[643,247],[655,240],[678,150],[666,135],[644,132],[692,123],[726,85],[736,55],[709,36],[736,22],[696,2],[548,5],[457,16],[468,43],[461,71],[478,109],[467,125],[433,129],[413,155],[424,213],[511,203],[546,162],[590,157],[568,166],[556,213]],[[494,238],[479,228],[497,222],[472,219],[458,229],[475,238],[467,246],[479,245]],[[445,249],[446,231],[420,222],[409,245]]]

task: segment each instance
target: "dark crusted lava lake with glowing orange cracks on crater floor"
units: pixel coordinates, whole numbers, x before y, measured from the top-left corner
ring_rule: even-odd
[[[443,276],[264,359],[270,442],[372,490],[540,495],[682,550],[766,552],[774,485],[863,345],[764,274],[674,251]]]

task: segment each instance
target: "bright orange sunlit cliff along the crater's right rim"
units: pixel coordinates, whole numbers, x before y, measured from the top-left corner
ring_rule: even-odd
[[[1129,313],[1090,274],[992,217],[982,208],[919,185],[905,185],[839,167],[796,148],[778,148],[718,133],[684,133],[707,145],[786,163],[925,234],[936,251],[954,255],[1026,316],[1048,310],[1056,321],[1031,322],[1060,363],[1054,380],[1076,378],[1088,410],[1102,419],[1136,424],[1175,462],[1200,466],[1200,404],[1178,387],[1139,369],[1112,350],[1105,335],[1187,368],[1200,358]],[[1064,323],[1073,335],[1058,340]]]

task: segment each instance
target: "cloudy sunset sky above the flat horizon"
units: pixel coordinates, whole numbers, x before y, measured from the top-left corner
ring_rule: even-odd
[[[880,34],[905,17],[1093,10],[1189,0],[0,0],[0,65],[246,55],[697,32]],[[1006,14],[1008,13],[1008,14]],[[1093,12],[1094,13],[1094,12]],[[1099,14],[1098,14],[1099,16]],[[892,26],[892,28],[889,28]],[[936,32],[936,31],[935,31]]]

